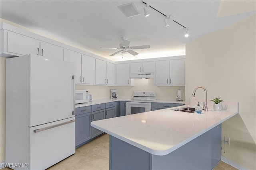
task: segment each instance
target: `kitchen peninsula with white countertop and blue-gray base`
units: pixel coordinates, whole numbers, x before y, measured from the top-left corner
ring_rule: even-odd
[[[221,159],[221,123],[238,113],[238,103],[202,114],[175,111],[185,107],[192,106],[92,122],[110,134],[110,170],[213,169]]]

